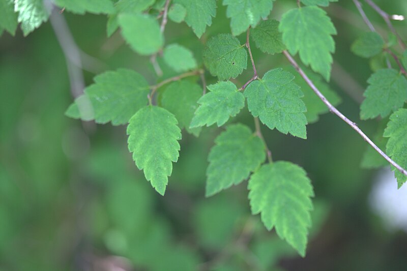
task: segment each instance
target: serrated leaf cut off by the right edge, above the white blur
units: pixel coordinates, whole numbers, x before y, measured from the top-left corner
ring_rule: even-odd
[[[386,144],[387,155],[402,168],[407,168],[407,109],[400,108],[390,115],[390,122],[387,124],[383,136],[389,137]],[[395,171],[394,175],[397,178],[398,188],[400,188],[407,180],[407,176],[393,166],[392,170]]]

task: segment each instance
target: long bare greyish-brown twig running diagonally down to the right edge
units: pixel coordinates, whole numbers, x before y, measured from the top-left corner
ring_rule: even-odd
[[[318,88],[312,83],[312,81],[308,78],[308,76],[304,73],[304,71],[300,68],[300,66],[297,64],[295,59],[287,52],[283,51],[283,54],[285,57],[287,57],[289,63],[293,65],[293,67],[298,71],[298,73],[301,75],[302,78],[304,78],[305,82],[312,88],[314,93],[319,97],[319,99],[322,100],[322,102],[329,108],[329,110],[340,117],[342,121],[347,123],[349,126],[351,126],[367,143],[369,143],[377,153],[379,153],[381,156],[383,156],[384,159],[386,159],[390,164],[392,164],[397,170],[399,170],[401,173],[407,176],[407,171],[402,168],[400,165],[398,165],[396,162],[394,162],[390,157],[388,157],[383,150],[381,150],[379,147],[376,146],[376,144],[373,143],[373,141],[365,134],[363,133],[362,130],[358,127],[358,125],[354,122],[352,122],[350,119],[345,117],[338,109],[336,109],[328,100],[325,98],[325,96],[318,90]]]

